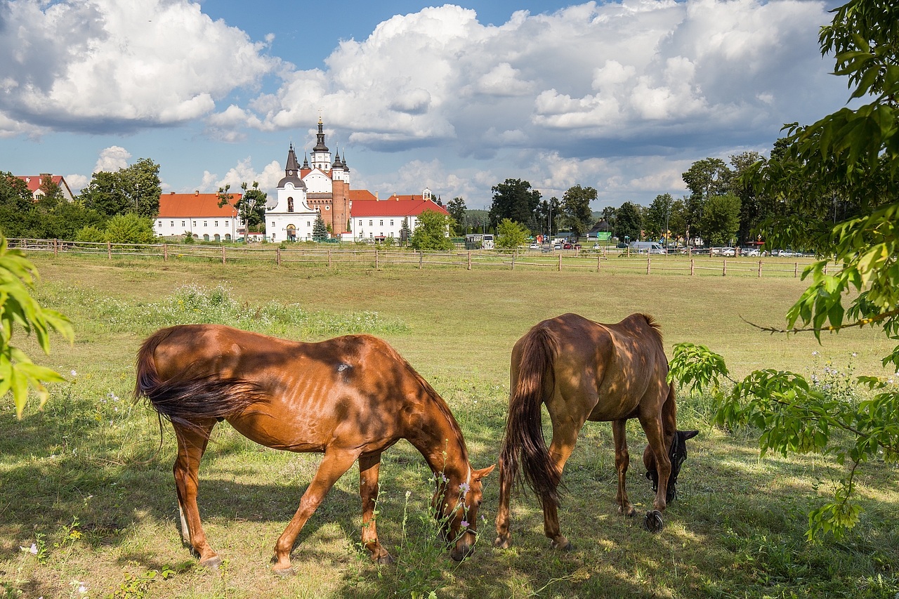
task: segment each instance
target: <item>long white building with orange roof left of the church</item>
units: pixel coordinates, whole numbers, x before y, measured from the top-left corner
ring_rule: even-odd
[[[240,193],[233,193],[236,203]],[[159,196],[156,235],[191,235],[204,241],[232,241],[246,232],[245,222],[233,206],[218,206],[218,193],[164,193]]]

